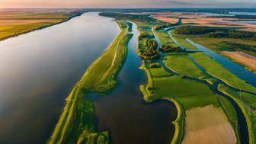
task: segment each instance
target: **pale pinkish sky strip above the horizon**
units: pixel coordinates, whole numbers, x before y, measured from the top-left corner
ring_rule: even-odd
[[[256,8],[256,0],[0,0],[0,8]]]

